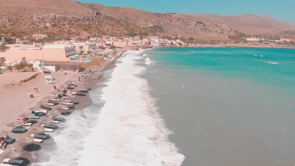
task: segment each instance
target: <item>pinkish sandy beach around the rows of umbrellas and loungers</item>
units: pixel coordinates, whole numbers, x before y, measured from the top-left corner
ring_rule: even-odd
[[[120,54],[117,54],[115,57],[117,58]],[[116,59],[114,58],[114,60]],[[95,64],[89,68],[86,68],[85,71],[89,71],[90,69],[97,73],[98,71],[105,71],[111,69],[115,66],[114,63],[110,63],[107,61],[103,61],[100,64]],[[93,74],[94,74],[93,73]],[[68,95],[65,96],[64,100],[61,100],[57,105],[51,106],[51,110],[48,112],[52,112],[57,110],[58,108],[65,107],[62,105],[63,102],[69,102],[70,100],[75,100],[78,104],[75,104],[68,110],[68,112],[73,112],[75,110],[80,110],[91,105],[92,101],[89,97],[87,91],[79,92],[82,87],[93,88],[95,85],[103,80],[103,77],[100,77],[98,80],[91,79],[91,76],[87,78],[81,78],[80,81],[77,80],[77,76],[82,73],[77,72],[67,72],[66,75],[64,72],[52,72],[51,74],[38,73],[33,71],[19,72],[19,71],[7,71],[3,74],[0,74],[0,97],[1,97],[1,116],[0,116],[0,130],[8,131],[11,127],[6,126],[7,123],[11,121],[15,121],[18,116],[25,112],[30,112],[37,108],[39,104],[45,104],[49,99],[55,97],[58,92],[54,90],[53,86],[56,86],[56,90],[61,90],[67,87],[67,84],[75,84],[77,87],[72,89],[72,91],[76,91],[77,95]],[[54,81],[52,84],[45,83],[44,76],[50,75],[54,77]],[[74,77],[76,78],[74,80]],[[21,80],[30,79],[26,82],[21,82]],[[37,88],[37,92],[34,92],[34,88]],[[59,92],[60,93],[60,92]],[[33,94],[33,97],[30,97],[30,94]],[[41,116],[49,117],[48,115]],[[40,126],[38,120],[31,120],[35,122],[32,126]],[[58,124],[56,124],[58,126]],[[21,151],[21,155],[16,159],[22,159],[24,162],[21,165],[30,165],[31,163],[38,161],[38,150],[41,148],[42,143],[31,142],[26,145],[26,149],[24,150],[24,145],[17,142],[17,139],[23,136],[29,136],[33,131],[28,129],[25,133],[13,133],[8,132],[8,135],[15,138],[15,141],[11,144],[8,144],[9,148],[15,148]],[[50,132],[43,132],[46,134],[49,139]],[[43,141],[46,141],[45,139]],[[4,157],[0,155],[0,161],[2,161]]]

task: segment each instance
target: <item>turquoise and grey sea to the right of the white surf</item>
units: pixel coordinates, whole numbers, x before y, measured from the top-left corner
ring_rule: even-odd
[[[144,51],[182,165],[294,165],[295,49]]]

